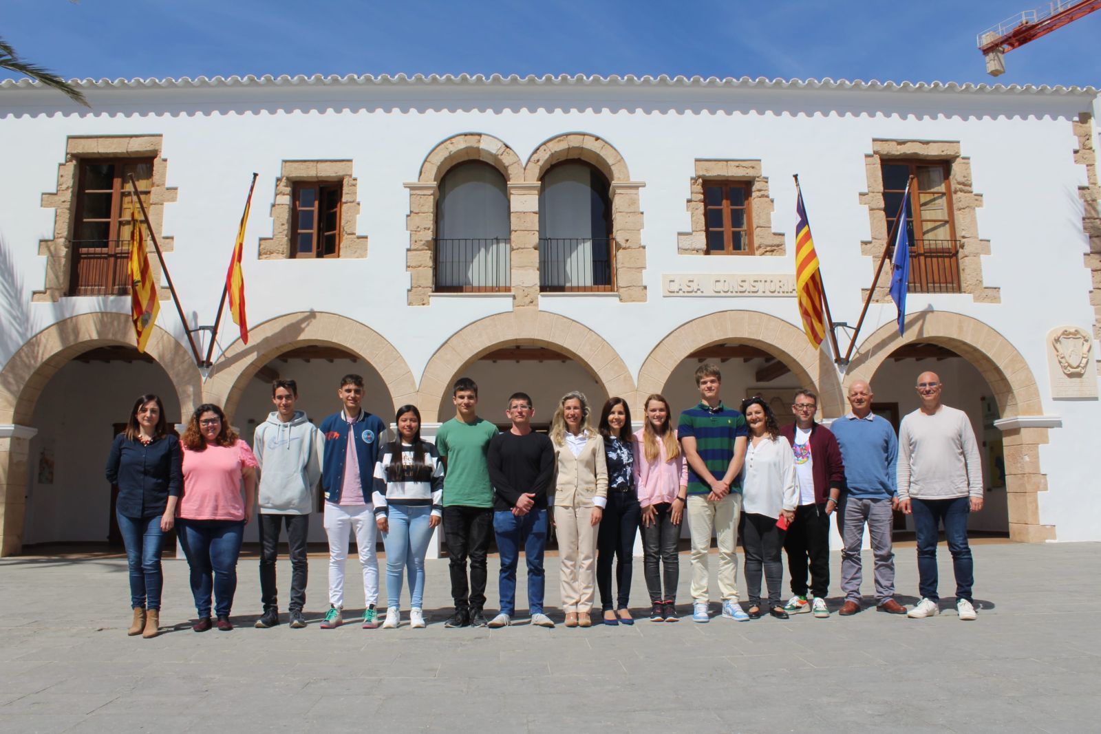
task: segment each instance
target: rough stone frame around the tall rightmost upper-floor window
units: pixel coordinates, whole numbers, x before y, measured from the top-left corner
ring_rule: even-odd
[[[872,139],[872,152],[864,155],[864,168],[868,177],[868,190],[859,196],[861,205],[868,207],[871,222],[871,240],[860,243],[860,252],[872,259],[872,273],[883,255],[887,244],[886,212],[883,200],[883,161],[930,161],[948,164],[949,186],[951,187],[951,217],[955,222],[956,239],[959,241],[960,291],[958,294],[936,294],[938,296],[970,295],[975,303],[1001,303],[1001,288],[988,287],[982,280],[983,255],[990,254],[990,240],[979,239],[979,224],[975,209],[982,206],[982,194],[975,194],[971,184],[971,158],[962,154],[959,141],[949,140],[896,140]],[[883,269],[875,284],[874,303],[886,303],[891,299],[891,270]],[[931,294],[930,294],[931,295]],[[861,298],[868,297],[868,288],[862,289]]]

